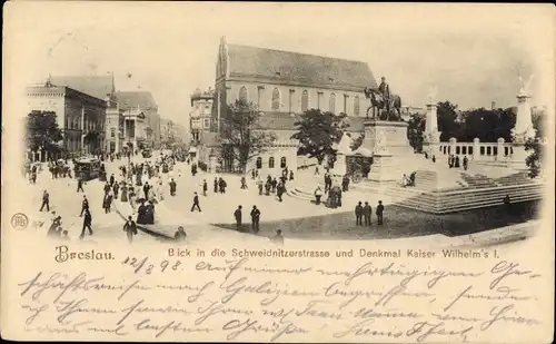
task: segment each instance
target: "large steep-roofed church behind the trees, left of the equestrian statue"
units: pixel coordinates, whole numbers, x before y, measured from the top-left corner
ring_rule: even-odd
[[[216,63],[215,111],[211,131],[221,132],[227,107],[236,99],[252,102],[261,112],[260,129],[277,140],[248,169],[276,174],[284,166],[297,168],[298,142],[290,137],[295,122],[308,109],[344,112],[363,132],[368,100],[366,87],[377,88],[367,63],[291,51],[228,45],[220,40]],[[224,161],[229,169],[231,161]]]

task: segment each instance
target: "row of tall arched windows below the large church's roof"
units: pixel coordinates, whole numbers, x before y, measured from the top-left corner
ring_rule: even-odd
[[[261,98],[261,94],[262,94],[262,89],[261,88],[258,88],[258,99],[257,99],[257,104],[260,107],[260,98]],[[240,100],[244,100],[244,101],[248,101],[247,99],[247,87],[246,86],[242,86],[240,89],[239,89],[239,99]],[[317,94],[317,109],[321,109],[322,110],[322,106],[324,106],[324,92],[318,92]],[[344,95],[344,109],[342,109],[342,112],[347,114],[348,112],[348,109],[347,109],[347,99],[349,98],[348,95]],[[275,88],[272,90],[272,101],[271,101],[271,105],[270,105],[270,108],[272,110],[276,110],[278,111],[280,109],[280,101],[281,101],[281,95],[280,95],[280,90],[278,88]],[[289,92],[289,112],[292,112],[292,104],[294,104],[294,91],[290,90]],[[307,90],[304,90],[301,92],[301,111],[305,112],[309,109],[309,92]],[[332,114],[336,114],[336,94],[330,94],[330,97],[329,97],[329,100],[328,100],[328,111],[332,112]],[[359,111],[360,111],[360,108],[359,108],[359,96],[355,96],[354,98],[354,115],[355,116],[359,116]]]

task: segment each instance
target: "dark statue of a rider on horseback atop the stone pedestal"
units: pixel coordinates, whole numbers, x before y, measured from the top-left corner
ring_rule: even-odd
[[[381,82],[377,89],[366,87],[364,91],[365,97],[370,99],[370,106],[367,108],[367,118],[369,118],[369,110],[373,109],[373,119],[401,120],[401,98],[398,95],[390,94],[390,87],[386,82],[385,77],[381,78]]]

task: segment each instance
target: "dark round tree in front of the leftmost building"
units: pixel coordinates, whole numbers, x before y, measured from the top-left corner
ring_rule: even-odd
[[[59,142],[63,139],[62,130],[53,111],[33,110],[27,115],[26,142],[31,150],[42,148],[48,153],[59,153]]]

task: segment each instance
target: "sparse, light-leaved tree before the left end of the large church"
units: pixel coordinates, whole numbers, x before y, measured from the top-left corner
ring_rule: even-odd
[[[228,106],[222,120],[222,150],[228,159],[238,163],[246,173],[247,163],[267,151],[275,142],[276,135],[259,126],[260,114],[252,102],[238,99]]]

